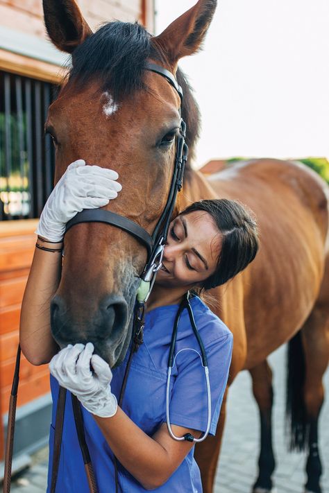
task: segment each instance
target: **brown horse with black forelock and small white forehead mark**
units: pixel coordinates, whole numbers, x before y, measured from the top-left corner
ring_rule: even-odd
[[[49,37],[72,54],[73,62],[46,125],[56,145],[56,182],[78,157],[116,169],[123,191],[108,208],[152,232],[169,191],[180,101],[166,80],[144,65],[151,60],[176,73],[178,60],[199,49],[216,3],[199,0],[164,33],[149,37],[137,24],[119,22],[93,34],[74,0],[44,0]],[[185,92],[182,113],[193,150],[199,113],[179,70],[177,77]],[[292,445],[310,448],[306,489],[319,493],[317,423],[329,358],[328,186],[305,166],[274,159],[235,166],[208,182],[188,168],[180,207],[215,197],[245,202],[261,230],[258,257],[213,291],[217,303],[212,305],[234,334],[229,383],[240,370],[250,370],[260,407],[262,447],[254,490],[271,491],[274,469],[267,356],[293,338]],[[145,260],[144,247],[115,227],[85,223],[71,228],[51,304],[58,343],[91,340],[110,365],[121,363]],[[205,493],[212,492],[224,420],[225,401],[216,438],[196,449]]]

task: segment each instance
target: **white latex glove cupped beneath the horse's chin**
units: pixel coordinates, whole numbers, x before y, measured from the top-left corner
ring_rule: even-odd
[[[76,395],[90,413],[112,417],[117,412],[117,399],[110,388],[112,372],[108,363],[93,352],[92,343],[69,344],[53,356],[49,370],[60,386]]]

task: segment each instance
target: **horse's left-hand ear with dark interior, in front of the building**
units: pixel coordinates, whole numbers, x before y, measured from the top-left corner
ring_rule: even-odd
[[[44,24],[56,48],[73,53],[92,35],[75,0],[43,0]]]

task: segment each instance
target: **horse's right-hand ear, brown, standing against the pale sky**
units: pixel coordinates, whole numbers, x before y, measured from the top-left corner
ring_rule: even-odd
[[[199,0],[163,33],[152,38],[171,64],[175,65],[183,56],[192,55],[200,49],[216,7],[217,0]]]

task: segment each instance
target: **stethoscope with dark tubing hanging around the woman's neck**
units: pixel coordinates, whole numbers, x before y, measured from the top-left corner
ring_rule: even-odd
[[[174,354],[180,315],[182,314],[183,310],[185,310],[185,309],[187,309],[187,312],[189,314],[189,322],[191,322],[191,326],[192,326],[192,329],[194,331],[194,336],[196,336],[196,339],[198,340],[201,354],[199,352],[197,352],[196,349],[192,349],[192,348],[180,349],[180,351],[178,351],[177,354]],[[178,356],[178,354],[182,351],[187,351],[187,350],[195,351],[197,354],[199,354],[200,359],[201,359],[201,364],[205,370],[205,381],[207,383],[208,422],[207,422],[207,429],[205,430],[205,432],[203,433],[203,435],[200,438],[194,438],[192,433],[185,433],[185,435],[183,435],[183,437],[178,437],[174,434],[174,432],[171,429],[171,425],[170,425],[169,386],[170,386],[171,370],[173,369],[173,367],[175,365],[176,357]],[[203,346],[202,339],[201,339],[199,331],[196,327],[196,323],[195,323],[194,315],[193,315],[193,311],[192,311],[192,306],[189,303],[189,293],[188,292],[184,296],[183,301],[180,303],[180,306],[178,308],[178,312],[176,314],[176,318],[175,318],[175,322],[174,322],[173,334],[171,336],[171,344],[170,344],[169,359],[168,359],[168,375],[167,375],[167,390],[166,390],[166,413],[167,413],[167,427],[168,427],[169,435],[171,435],[171,438],[174,438],[174,440],[179,440],[179,441],[187,440],[187,442],[203,442],[203,440],[205,440],[205,438],[207,438],[208,433],[210,431],[210,422],[211,422],[211,395],[210,395],[208,361],[207,361],[207,355],[205,354],[205,347]]]

